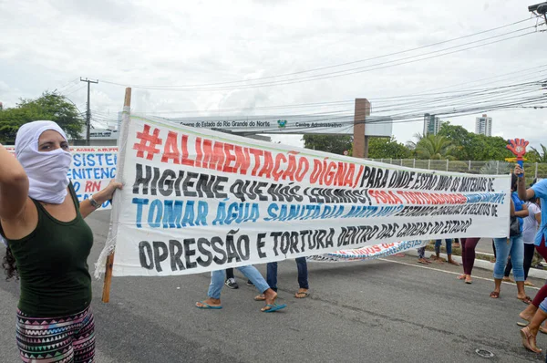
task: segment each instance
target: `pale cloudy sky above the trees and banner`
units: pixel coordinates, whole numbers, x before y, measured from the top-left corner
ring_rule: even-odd
[[[401,103],[393,99],[397,96],[408,101],[416,93],[546,79],[547,32],[525,35],[536,20],[424,47],[530,18],[532,3],[0,0],[0,101],[14,107],[20,98],[57,89],[84,110],[83,77],[99,81],[91,86],[97,125],[117,118],[124,85],[134,87],[132,109],[161,116],[349,112],[356,98],[369,99],[373,115],[389,115]],[[503,40],[511,36],[519,37]],[[502,41],[481,43],[490,37]],[[401,53],[417,47],[422,48]],[[451,54],[440,56],[449,47]],[[371,57],[378,58],[366,60]],[[306,72],[317,68],[323,69]],[[274,77],[287,74],[293,75]],[[305,78],[310,76],[319,79]],[[329,103],[337,101],[346,103]],[[428,112],[426,101],[415,99],[397,114]],[[511,102],[511,94],[503,101]],[[450,102],[442,106],[451,107]],[[309,103],[316,105],[252,110]],[[541,104],[547,106],[545,101],[532,105]],[[481,113],[443,119],[474,130]],[[547,109],[498,110],[489,116],[495,135],[547,144]],[[422,129],[422,121],[397,122],[393,134],[405,142]],[[274,140],[300,145],[300,138]]]

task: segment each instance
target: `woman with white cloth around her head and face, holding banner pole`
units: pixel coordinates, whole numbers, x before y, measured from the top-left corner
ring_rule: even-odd
[[[0,235],[8,278],[21,279],[16,340],[25,362],[92,362],[88,255],[84,218],[112,198],[119,182],[78,203],[67,178],[67,136],[52,121],[23,125],[13,157],[0,145]]]

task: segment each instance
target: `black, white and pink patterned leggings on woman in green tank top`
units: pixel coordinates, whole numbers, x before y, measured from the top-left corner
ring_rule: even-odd
[[[94,361],[95,323],[90,307],[60,317],[31,317],[17,310],[16,338],[26,363]]]

